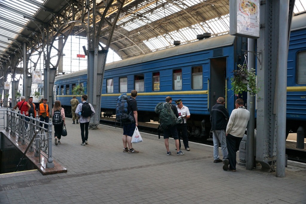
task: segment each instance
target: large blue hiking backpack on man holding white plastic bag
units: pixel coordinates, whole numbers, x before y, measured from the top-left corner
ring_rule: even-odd
[[[117,106],[116,106],[116,121],[120,123],[134,123],[135,119],[133,116],[131,116],[130,111],[128,113],[128,96],[126,94],[121,94],[117,99]]]

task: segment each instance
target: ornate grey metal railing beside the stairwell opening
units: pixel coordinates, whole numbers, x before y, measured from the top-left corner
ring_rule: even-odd
[[[1,120],[1,118],[0,118]],[[4,120],[4,118],[3,118]],[[5,122],[3,123],[5,125]],[[45,128],[47,127],[47,128]],[[52,158],[52,119],[49,118],[49,123],[39,120],[38,115],[35,118],[25,116],[24,112],[16,113],[10,109],[6,109],[6,131],[10,131],[10,135],[15,137],[18,136],[17,141],[21,142],[21,145],[26,145],[30,143],[34,134],[37,130],[37,135],[35,142],[31,143],[29,147],[29,152],[34,152],[35,157],[40,157],[39,150],[43,151],[42,154],[47,158],[46,167],[53,168],[53,158]]]

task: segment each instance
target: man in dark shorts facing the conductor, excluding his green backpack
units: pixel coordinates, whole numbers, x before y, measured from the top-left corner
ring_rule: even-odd
[[[171,109],[174,112],[175,116],[178,117],[178,112],[177,112],[177,107],[174,106],[172,103],[172,98],[170,96],[166,97],[166,102],[170,103],[171,105]],[[169,137],[170,135],[172,135],[173,139],[175,140],[175,146],[176,146],[176,150],[177,150],[177,155],[183,155],[184,153],[180,150],[180,142],[179,142],[179,138],[178,138],[178,134],[177,134],[177,128],[176,125],[172,125],[172,126],[166,126],[164,127],[164,139],[165,139],[165,146],[167,149],[167,155],[170,155],[170,149],[169,149]]]

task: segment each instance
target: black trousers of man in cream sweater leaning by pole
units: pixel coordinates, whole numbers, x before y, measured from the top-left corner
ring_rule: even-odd
[[[236,170],[236,152],[239,150],[242,137],[235,137],[231,134],[226,136],[226,146],[229,153],[230,169]]]

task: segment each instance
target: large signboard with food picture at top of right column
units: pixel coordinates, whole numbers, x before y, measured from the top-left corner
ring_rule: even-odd
[[[260,0],[230,0],[230,35],[259,38]]]

